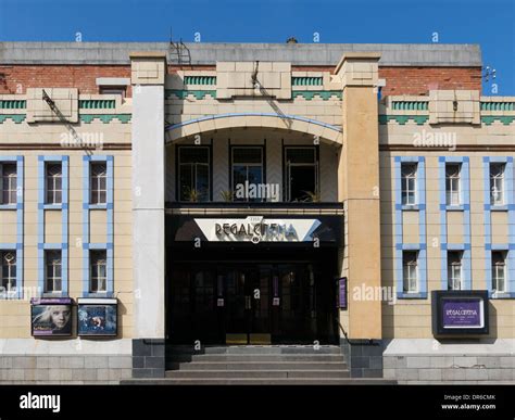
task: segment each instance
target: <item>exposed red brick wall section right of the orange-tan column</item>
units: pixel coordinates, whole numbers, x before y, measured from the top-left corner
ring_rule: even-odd
[[[379,67],[384,97],[427,94],[431,89],[481,90],[481,67]]]

